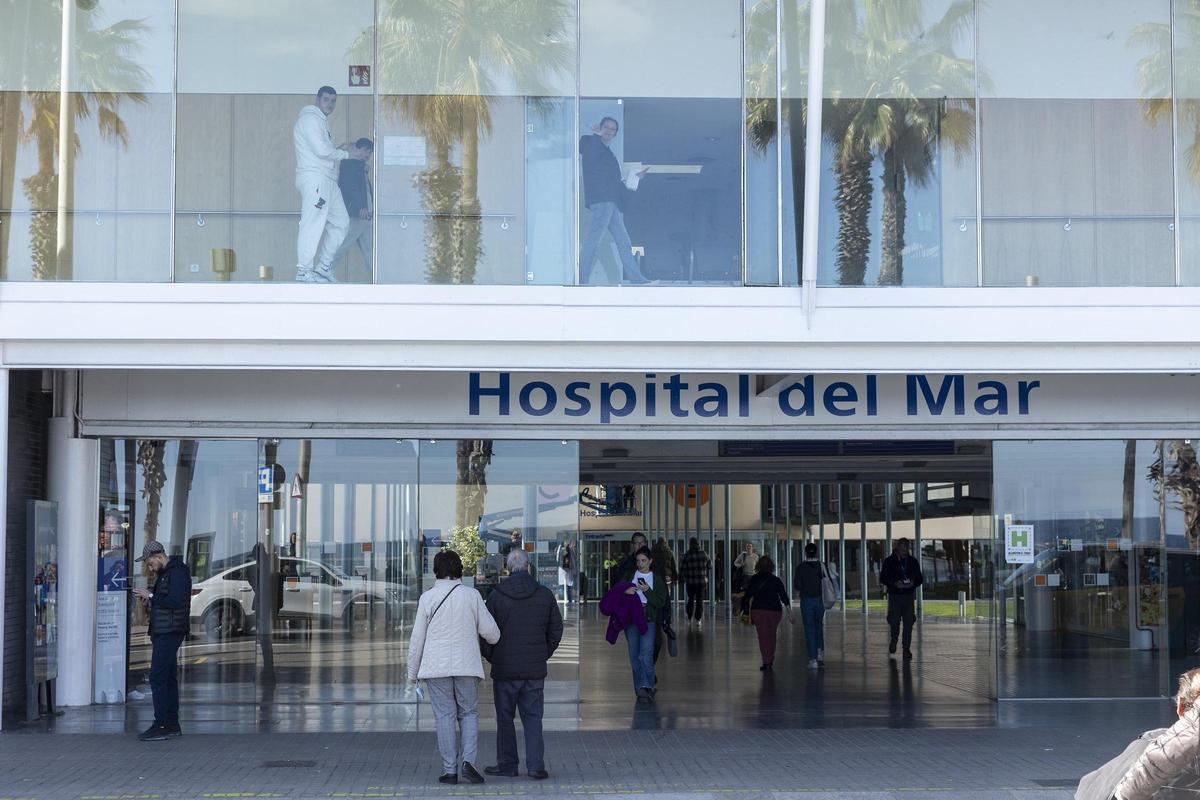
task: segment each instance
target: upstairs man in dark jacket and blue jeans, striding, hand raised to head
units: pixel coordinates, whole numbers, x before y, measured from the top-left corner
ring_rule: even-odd
[[[593,126],[592,134],[580,137],[580,163],[583,168],[583,205],[592,211],[588,235],[580,249],[580,283],[590,283],[592,267],[596,260],[600,237],[607,230],[617,245],[617,253],[630,283],[647,283],[637,261],[634,260],[634,243],[625,230],[625,200],[629,188],[620,179],[620,164],[611,146],[620,125],[611,116]],[[646,174],[643,169],[640,174]]]

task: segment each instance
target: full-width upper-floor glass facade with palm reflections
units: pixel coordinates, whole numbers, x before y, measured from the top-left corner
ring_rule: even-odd
[[[456,8],[5,4],[0,277],[1200,282],[1188,2]]]

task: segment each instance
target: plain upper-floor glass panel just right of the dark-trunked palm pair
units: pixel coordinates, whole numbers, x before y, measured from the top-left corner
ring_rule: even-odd
[[[1175,282],[1169,23],[1168,0],[980,6],[984,283]]]

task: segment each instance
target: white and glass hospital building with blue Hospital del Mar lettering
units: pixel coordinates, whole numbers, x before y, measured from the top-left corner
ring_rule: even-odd
[[[151,537],[202,587],[194,697],[254,702],[271,670],[404,702],[388,669],[432,548],[521,529],[554,583],[558,546],[587,547],[578,489],[604,483],[636,487],[632,527],[728,548],[734,464],[787,487],[760,522],[788,565],[812,513],[857,515],[862,548],[827,553],[859,565],[863,613],[871,513],[919,536],[930,486],[958,486],[971,541],[929,563],[989,626],[988,697],[1170,693],[1200,644],[1195,16],[886,5],[10,4],[6,708],[48,642],[59,704],[131,702],[144,620],[124,587]],[[373,246],[313,285],[289,134],[324,85],[331,142],[373,143]],[[580,155],[606,119],[648,284]],[[678,469],[638,473],[648,443]],[[677,482],[712,488],[682,528]],[[53,551],[26,540],[37,500]],[[330,688],[288,660],[301,624],[379,661]],[[1092,685],[1028,678],[1080,649]],[[554,669],[577,698],[577,661]]]

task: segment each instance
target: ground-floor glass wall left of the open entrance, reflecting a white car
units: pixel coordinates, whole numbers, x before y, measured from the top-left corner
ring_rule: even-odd
[[[132,561],[150,539],[192,572],[185,698],[326,704],[415,704],[408,637],[442,547],[486,595],[515,535],[552,590],[577,539],[574,443],[106,439],[101,461],[100,630],[127,631],[128,655],[97,637],[97,702],[145,699],[146,619],[124,584],[150,583]],[[575,636],[569,620],[550,702],[578,698]]]

